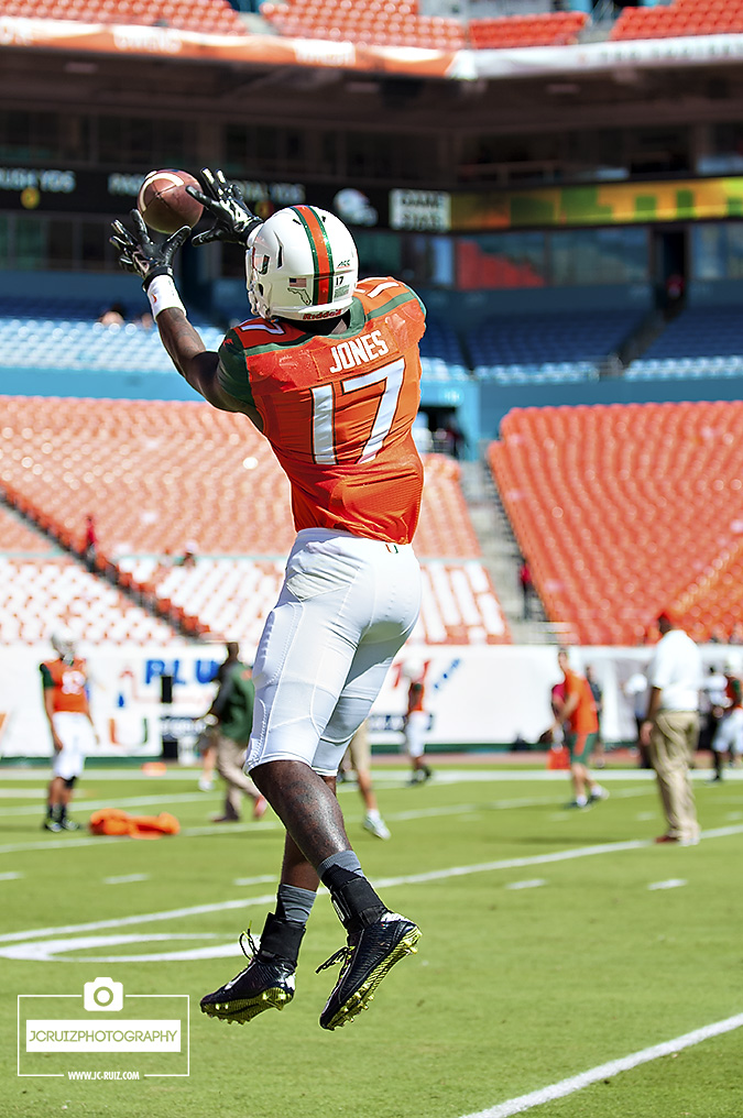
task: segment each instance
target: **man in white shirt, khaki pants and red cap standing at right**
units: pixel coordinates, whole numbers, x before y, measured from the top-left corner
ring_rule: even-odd
[[[649,750],[666,813],[658,843],[694,846],[699,841],[689,766],[699,738],[702,656],[670,613],[658,618],[661,638],[648,665],[650,699],[640,727],[640,745]]]

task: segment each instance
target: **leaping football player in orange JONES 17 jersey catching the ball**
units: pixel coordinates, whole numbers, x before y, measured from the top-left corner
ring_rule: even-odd
[[[172,260],[190,230],[156,243],[133,210],[133,233],[114,222],[112,244],[121,265],[142,277],[180,375],[269,439],[291,483],[298,530],[255,657],[245,762],[286,828],[276,911],[260,948],[251,942],[246,969],[207,994],[201,1008],[244,1022],[291,1001],[322,881],[347,934],[323,964],[341,963],[320,1015],[332,1030],[366,1006],[420,936],[364,875],[335,790],[346,747],[418,614],[411,540],[423,467],[411,428],[425,311],[391,276],[358,283],[356,245],[335,215],[291,206],[262,222],[222,172],[203,170],[201,181],[204,192],[194,195],[214,225],[194,244],[244,245],[253,312],[218,352],[205,349],[176,288]]]

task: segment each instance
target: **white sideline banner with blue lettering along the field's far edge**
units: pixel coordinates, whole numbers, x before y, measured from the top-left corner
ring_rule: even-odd
[[[582,672],[592,665],[603,690],[602,731],[609,743],[636,738],[627,683],[637,680],[650,652],[649,647],[570,650],[573,666]],[[707,645],[702,652],[706,664],[717,667],[728,656],[725,645]],[[211,679],[225,655],[223,645],[81,643],[79,653],[88,664],[91,709],[101,739],[92,756],[159,757],[164,730],[180,741],[181,756],[192,758],[198,720],[211,702]],[[51,758],[39,664],[53,656],[47,644],[0,648],[0,758]],[[427,742],[455,747],[537,742],[552,721],[552,688],[562,680],[554,645],[407,646],[374,705],[369,724],[374,745],[402,742],[412,674],[424,679],[431,716]],[[172,679],[173,701],[167,707],[160,702],[163,675]]]

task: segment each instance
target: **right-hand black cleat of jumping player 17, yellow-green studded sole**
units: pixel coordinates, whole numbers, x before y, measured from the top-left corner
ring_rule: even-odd
[[[367,1003],[387,972],[405,955],[417,951],[420,938],[416,925],[397,912],[385,912],[360,931],[349,931],[347,946],[318,967],[319,973],[342,961],[338,982],[320,1014],[322,1027],[339,1029],[368,1008]]]

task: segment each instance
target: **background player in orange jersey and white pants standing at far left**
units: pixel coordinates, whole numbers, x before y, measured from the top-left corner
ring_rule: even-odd
[[[85,755],[97,741],[87,701],[87,665],[75,654],[70,633],[59,631],[51,637],[56,660],[39,665],[44,688],[44,712],[51,731],[54,762],[47,796],[46,831],[77,831],[79,824],[67,818],[73,787],[83,773]]]

